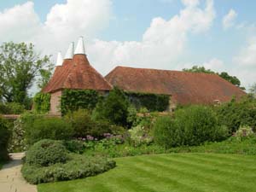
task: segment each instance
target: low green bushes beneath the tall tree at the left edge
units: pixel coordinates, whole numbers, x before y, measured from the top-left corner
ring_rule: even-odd
[[[25,111],[25,107],[18,102],[0,103],[0,113],[2,114],[20,114]]]

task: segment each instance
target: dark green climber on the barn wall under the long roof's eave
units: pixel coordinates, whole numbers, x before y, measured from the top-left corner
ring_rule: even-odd
[[[151,93],[125,92],[130,102],[139,108],[148,108],[150,112],[165,111],[169,106],[169,96]]]

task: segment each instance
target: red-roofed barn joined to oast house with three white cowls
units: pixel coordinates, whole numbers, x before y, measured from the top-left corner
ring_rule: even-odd
[[[162,94],[169,96],[169,108],[177,104],[215,104],[229,102],[233,96],[246,93],[216,74],[188,73],[148,68],[115,67],[104,78],[90,65],[84,51],[83,38],[74,50],[70,44],[64,60],[58,54],[55,72],[42,92],[49,93],[49,113],[61,114],[61,94],[68,90],[97,90],[108,93],[113,86],[126,92]]]

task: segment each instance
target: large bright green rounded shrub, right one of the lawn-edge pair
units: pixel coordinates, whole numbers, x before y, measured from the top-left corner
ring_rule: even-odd
[[[227,128],[219,125],[216,113],[209,107],[195,105],[177,110],[175,120],[183,129],[185,145],[220,141],[228,136]]]

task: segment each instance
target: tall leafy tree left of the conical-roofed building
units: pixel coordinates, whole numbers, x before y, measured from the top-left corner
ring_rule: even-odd
[[[40,70],[52,69],[49,56],[41,57],[35,52],[33,44],[3,43],[0,46],[0,100],[19,102],[26,108],[28,93]]]

